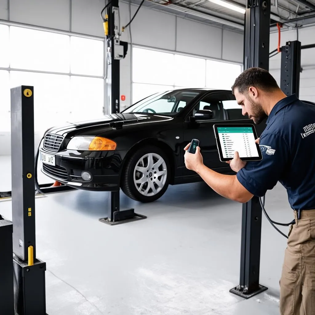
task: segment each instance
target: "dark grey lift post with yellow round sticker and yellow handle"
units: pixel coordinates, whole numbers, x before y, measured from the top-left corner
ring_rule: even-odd
[[[45,315],[46,263],[36,258],[32,86],[11,89],[11,152],[14,310]]]

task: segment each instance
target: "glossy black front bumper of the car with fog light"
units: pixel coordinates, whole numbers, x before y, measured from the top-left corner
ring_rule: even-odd
[[[120,171],[123,160],[122,151],[72,151],[51,152],[39,146],[41,153],[54,157],[54,165],[44,163],[41,171],[53,180],[77,189],[94,191],[112,191],[120,187]],[[83,180],[81,173],[92,175],[89,181]]]

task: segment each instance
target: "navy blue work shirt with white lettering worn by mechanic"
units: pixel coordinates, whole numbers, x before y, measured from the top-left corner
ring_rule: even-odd
[[[253,195],[264,196],[279,181],[292,209],[315,209],[315,106],[296,95],[271,110],[260,137],[261,161],[249,161],[238,181]]]

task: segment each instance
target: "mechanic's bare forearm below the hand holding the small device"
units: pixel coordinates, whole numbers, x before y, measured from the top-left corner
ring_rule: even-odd
[[[219,195],[245,203],[252,195],[238,182],[236,175],[224,175],[209,169],[204,164],[196,169],[196,173]]]

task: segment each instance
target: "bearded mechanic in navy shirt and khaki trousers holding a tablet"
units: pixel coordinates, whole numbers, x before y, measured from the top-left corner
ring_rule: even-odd
[[[281,315],[315,314],[315,106],[286,96],[271,74],[249,68],[239,75],[232,93],[242,114],[255,124],[265,118],[257,143],[261,161],[243,162],[235,152],[227,163],[236,175],[223,175],[203,164],[200,148],[185,147],[185,165],[215,192],[246,203],[264,196],[279,181],[287,190],[295,224],[290,226],[280,278]],[[200,143],[202,147],[202,143]],[[298,211],[300,210],[300,211]]]

